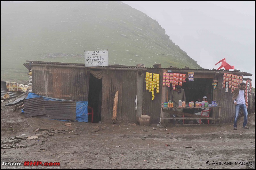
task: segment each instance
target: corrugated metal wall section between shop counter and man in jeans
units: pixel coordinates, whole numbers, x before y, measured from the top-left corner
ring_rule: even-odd
[[[235,115],[235,105],[232,102],[233,93],[231,93],[231,88],[228,89],[228,93],[225,93],[225,89],[222,88],[223,74],[218,76],[217,92],[215,92],[215,100],[218,106],[221,106],[221,122],[229,123],[234,119]],[[214,110],[214,117],[218,114],[218,109]]]

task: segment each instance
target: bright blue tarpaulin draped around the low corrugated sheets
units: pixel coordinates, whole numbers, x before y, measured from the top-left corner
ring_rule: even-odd
[[[72,101],[72,100],[40,96],[31,92],[28,93],[27,99],[35,98],[35,97],[43,97],[44,101]],[[76,101],[76,120],[78,122],[88,122],[87,106],[88,106],[88,101]]]

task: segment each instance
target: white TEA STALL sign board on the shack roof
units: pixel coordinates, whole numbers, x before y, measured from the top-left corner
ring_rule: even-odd
[[[108,51],[84,51],[85,67],[108,66]]]

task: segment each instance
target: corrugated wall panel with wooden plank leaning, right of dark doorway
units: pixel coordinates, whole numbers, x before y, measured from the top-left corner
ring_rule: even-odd
[[[137,71],[103,70],[101,120],[112,120],[118,90],[117,120],[136,120]]]

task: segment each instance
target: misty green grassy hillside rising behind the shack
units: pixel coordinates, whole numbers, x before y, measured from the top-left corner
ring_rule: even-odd
[[[28,78],[26,60],[84,63],[108,49],[109,64],[201,68],[158,22],[120,1],[1,2],[1,80]]]

